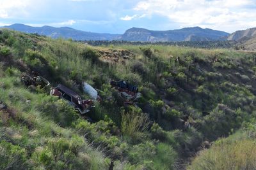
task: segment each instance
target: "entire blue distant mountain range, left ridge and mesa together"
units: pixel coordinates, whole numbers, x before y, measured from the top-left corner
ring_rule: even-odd
[[[200,27],[188,27],[170,31],[150,31],[142,28],[131,28],[124,34],[105,34],[95,32],[85,32],[72,29],[70,27],[31,27],[23,24],[13,24],[4,26],[26,33],[37,33],[51,38],[72,38],[74,40],[125,40],[125,41],[211,41],[225,40],[230,35],[227,32],[212,29],[202,29]]]

